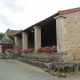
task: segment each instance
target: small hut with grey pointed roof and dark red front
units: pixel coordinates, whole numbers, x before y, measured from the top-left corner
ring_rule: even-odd
[[[5,53],[6,49],[13,49],[13,41],[7,35],[0,40],[0,53]]]

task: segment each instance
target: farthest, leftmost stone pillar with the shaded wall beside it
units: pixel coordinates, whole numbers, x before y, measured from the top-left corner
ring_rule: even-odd
[[[14,40],[15,40],[14,52],[17,53],[19,49],[22,49],[22,38],[14,36]]]

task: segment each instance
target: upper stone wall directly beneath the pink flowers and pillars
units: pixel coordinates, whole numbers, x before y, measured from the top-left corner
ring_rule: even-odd
[[[26,58],[27,60],[49,63],[49,62],[63,62],[62,59],[63,55],[64,54],[58,53],[28,53],[28,54],[22,53],[21,57]]]

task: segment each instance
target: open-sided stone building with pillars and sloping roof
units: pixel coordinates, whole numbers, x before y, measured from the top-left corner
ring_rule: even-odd
[[[52,45],[67,52],[65,60],[80,58],[80,8],[58,11],[15,35],[15,52]]]

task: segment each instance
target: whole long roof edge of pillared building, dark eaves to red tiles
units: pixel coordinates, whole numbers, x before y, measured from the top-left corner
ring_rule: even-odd
[[[34,26],[41,26],[45,23],[48,23],[48,22],[52,21],[54,19],[54,17],[56,17],[58,15],[64,15],[64,14],[77,12],[77,11],[80,11],[80,7],[79,8],[68,9],[68,10],[60,10],[57,13],[53,14],[52,16],[50,16],[50,17],[48,17],[48,18],[46,18],[46,19],[44,19],[44,20],[42,20],[42,21],[40,21],[40,22],[38,22],[38,23],[36,23],[36,24],[26,28],[26,29],[24,29],[21,32],[28,31],[28,30],[32,29]],[[18,34],[15,34],[15,35],[19,35],[19,34],[21,35],[21,32],[19,32]]]

